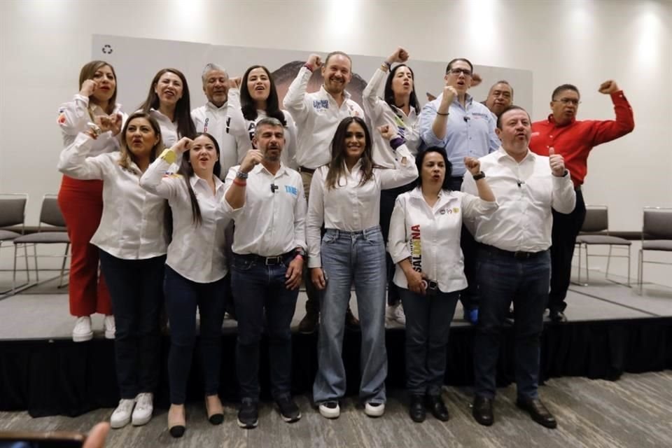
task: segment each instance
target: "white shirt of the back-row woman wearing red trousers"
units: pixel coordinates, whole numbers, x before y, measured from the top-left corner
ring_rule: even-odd
[[[92,123],[91,116],[107,116],[107,113],[97,104],[89,109],[89,98],[76,94],[72,101],[61,104],[58,109],[58,125],[61,128],[63,136],[63,147],[67,148],[74,143],[77,134],[87,132],[89,127],[87,123]],[[113,115],[120,113],[122,116],[122,127],[128,116],[121,111],[121,104],[115,104]],[[99,155],[119,151],[120,137],[113,135],[112,131],[103,132],[91,144],[89,155]]]

